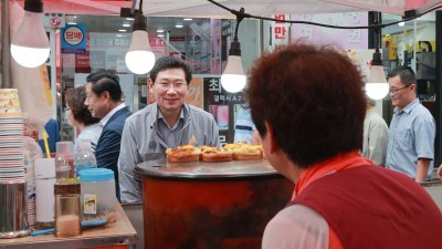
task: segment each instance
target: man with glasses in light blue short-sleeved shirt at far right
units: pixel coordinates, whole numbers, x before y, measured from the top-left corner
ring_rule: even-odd
[[[390,123],[386,167],[407,174],[418,183],[431,179],[435,121],[417,97],[414,72],[399,66],[388,74],[393,118]]]

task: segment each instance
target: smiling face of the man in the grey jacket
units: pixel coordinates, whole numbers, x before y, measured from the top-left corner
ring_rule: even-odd
[[[156,82],[149,79],[149,91],[164,114],[180,112],[189,93],[185,71],[182,69],[160,71]]]

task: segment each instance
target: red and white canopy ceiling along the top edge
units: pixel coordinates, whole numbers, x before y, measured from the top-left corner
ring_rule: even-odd
[[[24,0],[18,1],[21,4]],[[379,11],[403,15],[407,10],[418,13],[439,6],[442,0],[215,0],[221,4],[253,15],[271,13],[334,13],[348,11]],[[130,0],[43,0],[44,11],[67,14],[119,14],[120,8],[131,8]],[[139,1],[135,0],[138,9]],[[207,0],[144,0],[143,12],[152,17],[211,17],[233,15]]]

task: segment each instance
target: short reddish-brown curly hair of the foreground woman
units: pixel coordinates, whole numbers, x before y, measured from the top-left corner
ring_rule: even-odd
[[[267,122],[288,158],[308,167],[362,147],[362,75],[332,46],[278,46],[257,59],[246,96],[261,136]]]

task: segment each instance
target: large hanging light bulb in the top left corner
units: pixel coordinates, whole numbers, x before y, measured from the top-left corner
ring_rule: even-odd
[[[24,18],[11,39],[11,55],[22,66],[36,68],[49,56],[49,39],[44,31],[41,13],[41,0],[24,1]]]

